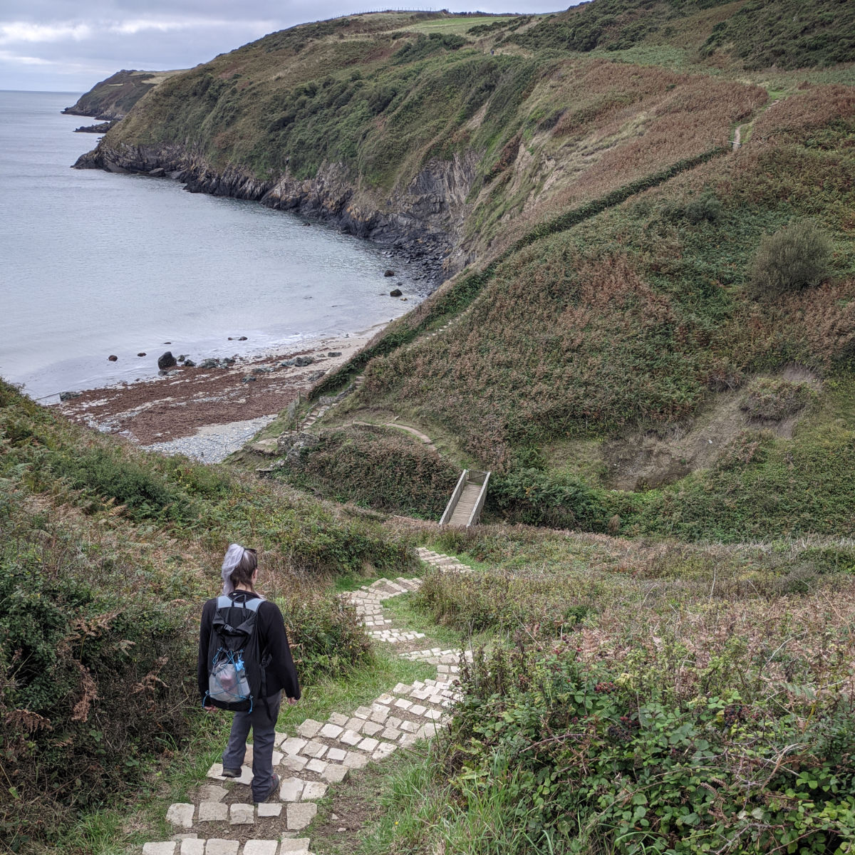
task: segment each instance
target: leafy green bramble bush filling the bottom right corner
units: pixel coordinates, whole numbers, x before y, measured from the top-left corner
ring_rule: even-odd
[[[511,787],[507,822],[525,835],[507,855],[849,851],[851,699],[778,683],[763,693],[738,641],[679,691],[664,661],[610,668],[574,644],[464,663],[442,758],[450,823]],[[473,831],[468,851],[490,852]]]

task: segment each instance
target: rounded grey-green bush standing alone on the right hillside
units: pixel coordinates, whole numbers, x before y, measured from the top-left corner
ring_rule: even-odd
[[[767,234],[752,262],[752,296],[777,297],[819,285],[828,276],[831,256],[831,241],[811,221],[793,223]]]

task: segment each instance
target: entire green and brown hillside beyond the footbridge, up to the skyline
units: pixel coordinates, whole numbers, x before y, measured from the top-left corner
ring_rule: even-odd
[[[352,221],[447,211],[449,267],[469,268],[316,393],[363,373],[327,427],[428,433],[449,471],[492,469],[493,519],[852,534],[848,470],[829,463],[855,428],[835,391],[855,352],[849,5],[354,15],[174,76],[102,147],[316,192]],[[795,276],[787,252],[816,269]],[[797,388],[769,394],[807,396],[798,411],[742,406],[781,382]],[[326,434],[281,474],[441,504],[435,463],[366,441]]]

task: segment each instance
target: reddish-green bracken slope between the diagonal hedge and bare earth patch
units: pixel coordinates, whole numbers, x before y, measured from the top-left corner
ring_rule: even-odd
[[[812,115],[824,97],[836,104],[811,93],[788,107]],[[501,468],[520,446],[678,421],[728,374],[830,367],[855,333],[855,92],[844,97],[848,115],[823,129],[822,146],[814,128],[775,127],[770,110],[754,131],[762,148],[511,253],[444,333],[369,363],[360,394],[410,401]],[[828,283],[753,299],[761,236],[802,217],[834,239]]]

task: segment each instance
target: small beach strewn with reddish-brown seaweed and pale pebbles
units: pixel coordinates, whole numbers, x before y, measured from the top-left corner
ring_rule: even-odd
[[[224,439],[233,438],[236,423],[275,416],[323,374],[361,350],[386,323],[360,333],[306,339],[298,349],[269,348],[239,357],[226,368],[179,365],[163,377],[87,389],[50,406],[72,422],[124,436],[138,445],[162,446],[204,437],[209,450],[216,428],[222,428]],[[297,357],[312,361],[299,366],[280,364]],[[215,455],[208,451],[200,459],[212,461]]]

